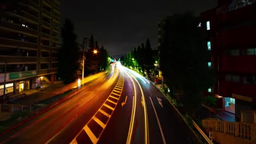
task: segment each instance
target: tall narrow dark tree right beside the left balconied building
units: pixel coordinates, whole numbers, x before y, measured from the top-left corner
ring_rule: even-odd
[[[62,45],[59,49],[58,75],[64,84],[74,82],[79,69],[79,48],[72,21],[66,19],[61,28]]]

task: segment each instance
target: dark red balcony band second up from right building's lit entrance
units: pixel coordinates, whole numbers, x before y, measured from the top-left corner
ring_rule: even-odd
[[[222,72],[256,73],[256,55],[223,56],[219,64]]]

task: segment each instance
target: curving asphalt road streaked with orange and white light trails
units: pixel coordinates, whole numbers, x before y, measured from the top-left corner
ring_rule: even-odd
[[[190,144],[189,129],[155,85],[122,66],[0,135],[10,144]]]

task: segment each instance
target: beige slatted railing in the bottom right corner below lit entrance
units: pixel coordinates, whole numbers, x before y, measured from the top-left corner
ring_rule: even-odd
[[[205,129],[226,133],[251,141],[256,141],[256,125],[251,123],[228,122],[221,120],[202,120]]]

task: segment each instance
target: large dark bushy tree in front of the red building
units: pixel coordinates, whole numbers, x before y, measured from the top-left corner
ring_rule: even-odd
[[[182,92],[181,102],[189,115],[201,106],[201,93],[215,82],[214,70],[207,65],[210,53],[202,27],[197,27],[199,23],[200,18],[191,13],[168,16],[159,46],[165,81],[171,91]]]

